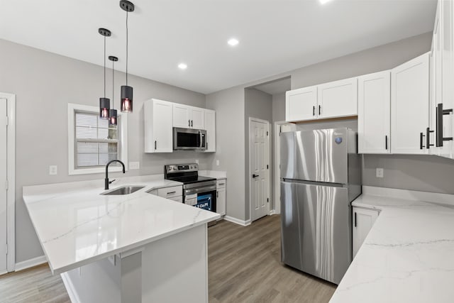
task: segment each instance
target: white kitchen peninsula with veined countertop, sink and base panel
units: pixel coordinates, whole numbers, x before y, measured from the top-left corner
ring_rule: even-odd
[[[117,179],[143,187],[102,195],[104,180],[23,187],[53,274],[72,302],[208,302],[207,223],[220,216],[150,192],[162,175]],[[177,291],[175,291],[177,290]]]

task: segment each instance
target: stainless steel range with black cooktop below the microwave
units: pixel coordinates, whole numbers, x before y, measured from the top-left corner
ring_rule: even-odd
[[[183,203],[216,212],[216,179],[199,176],[199,165],[165,165],[164,177],[183,183]]]

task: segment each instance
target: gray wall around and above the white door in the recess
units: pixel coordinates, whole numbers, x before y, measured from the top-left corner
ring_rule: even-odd
[[[245,218],[250,217],[249,118],[257,118],[270,122],[270,132],[272,133],[272,95],[259,91],[257,89],[245,89]],[[272,144],[271,136],[270,144]],[[271,159],[272,155],[270,155],[270,160]],[[272,178],[271,161],[270,178]],[[270,202],[271,198],[272,191],[270,189]]]

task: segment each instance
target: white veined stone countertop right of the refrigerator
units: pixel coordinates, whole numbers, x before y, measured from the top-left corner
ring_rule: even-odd
[[[436,204],[454,196],[375,189],[352,203],[380,215],[330,302],[454,302],[454,209]]]

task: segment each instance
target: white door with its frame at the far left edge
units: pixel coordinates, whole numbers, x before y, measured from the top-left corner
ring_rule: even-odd
[[[0,275],[14,270],[16,96],[0,93]]]

